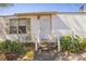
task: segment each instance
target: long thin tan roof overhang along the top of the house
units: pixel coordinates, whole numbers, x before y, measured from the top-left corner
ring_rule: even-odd
[[[56,15],[56,14],[86,14],[86,11],[84,12],[57,12],[57,11],[51,11],[51,12],[26,12],[26,13],[15,13],[12,15],[1,15],[0,17],[11,17],[11,16],[25,16],[25,15]]]

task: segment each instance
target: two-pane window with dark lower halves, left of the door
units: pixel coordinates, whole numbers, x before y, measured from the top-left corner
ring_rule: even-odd
[[[11,18],[10,34],[26,34],[30,31],[30,18]]]

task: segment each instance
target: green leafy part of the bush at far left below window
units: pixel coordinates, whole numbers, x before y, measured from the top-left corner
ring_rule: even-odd
[[[23,52],[22,44],[17,41],[5,40],[5,41],[2,41],[0,46],[1,46],[0,50],[4,53],[13,52],[13,53],[20,54]]]

